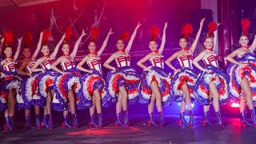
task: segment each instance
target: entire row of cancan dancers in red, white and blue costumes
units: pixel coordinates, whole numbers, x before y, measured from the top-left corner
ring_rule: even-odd
[[[149,119],[148,126],[165,125],[162,106],[170,106],[172,102],[181,102],[179,125],[193,126],[194,117],[192,103],[203,105],[204,125],[213,125],[209,118],[210,104],[214,106],[214,111],[218,118],[218,126],[223,127],[220,105],[225,104],[232,98],[240,103],[241,122],[249,126],[256,126],[256,115],[254,104],[256,104],[256,36],[251,46],[248,46],[248,27],[249,19],[242,19],[242,35],[239,38],[240,47],[226,57],[230,66],[225,72],[218,66],[218,56],[214,53],[214,43],[217,37],[216,30],[218,24],[210,22],[208,33],[204,40],[205,50],[193,58],[194,50],[197,49],[198,39],[201,35],[202,26],[205,18],[199,24],[199,30],[194,38],[194,42],[189,47],[187,38],[192,33],[191,24],[186,24],[182,28],[182,36],[179,39],[178,50],[165,63],[172,70],[169,74],[164,69],[164,58],[162,52],[166,43],[165,23],[162,31],[162,42],[158,48],[157,38],[160,30],[157,26],[150,28],[150,54],[137,62],[143,69],[142,74],[138,74],[130,66],[130,49],[136,37],[137,30],[142,25],[138,22],[133,34],[129,35],[125,31],[116,42],[117,51],[103,63],[110,71],[106,74],[106,79],[102,76],[101,54],[107,46],[110,29],[106,34],[106,39],[99,50],[96,49],[99,30],[97,27],[91,28],[91,38],[88,44],[89,54],[86,54],[82,61],[75,65],[79,44],[86,35],[82,34],[74,44],[70,53],[69,44],[72,31],[66,28],[66,33],[50,54],[47,46],[48,38],[51,37],[49,30],[43,30],[34,54],[30,57],[30,43],[32,36],[30,33],[25,35],[25,42],[22,54],[24,60],[17,68],[17,58],[22,47],[22,38],[18,38],[18,47],[12,57],[13,33],[6,31],[1,39],[1,51],[3,50],[6,58],[1,60],[1,94],[0,111],[4,111],[5,130],[13,130],[15,127],[15,109],[25,110],[25,126],[34,128],[30,122],[30,109],[34,107],[35,127],[37,129],[53,129],[52,110],[63,113],[62,127],[78,128],[76,111],[86,108],[90,109],[90,127],[102,128],[102,107],[116,105],[115,126],[129,126],[127,105],[142,103],[148,105]],[[130,40],[129,40],[130,38]],[[128,44],[125,42],[129,40]],[[4,45],[5,44],[5,45]],[[3,48],[4,47],[4,48]],[[55,59],[61,47],[62,56]],[[42,58],[37,58],[41,51]],[[173,65],[172,61],[178,60],[178,65]],[[151,66],[143,63],[150,61]],[[204,66],[199,65],[199,61]],[[116,66],[111,66],[110,62],[115,61]],[[84,67],[87,64],[89,69]],[[60,65],[60,66],[58,66]],[[201,70],[200,74],[195,74],[193,65]],[[58,67],[61,67],[59,69]],[[159,116],[158,124],[154,122],[154,103],[156,104]],[[245,116],[245,108],[249,107],[251,121],[248,122]],[[186,122],[186,106],[189,111],[189,122]],[[42,118],[40,109],[44,110]],[[96,110],[96,114],[95,114]],[[69,123],[69,111],[72,122]]]

